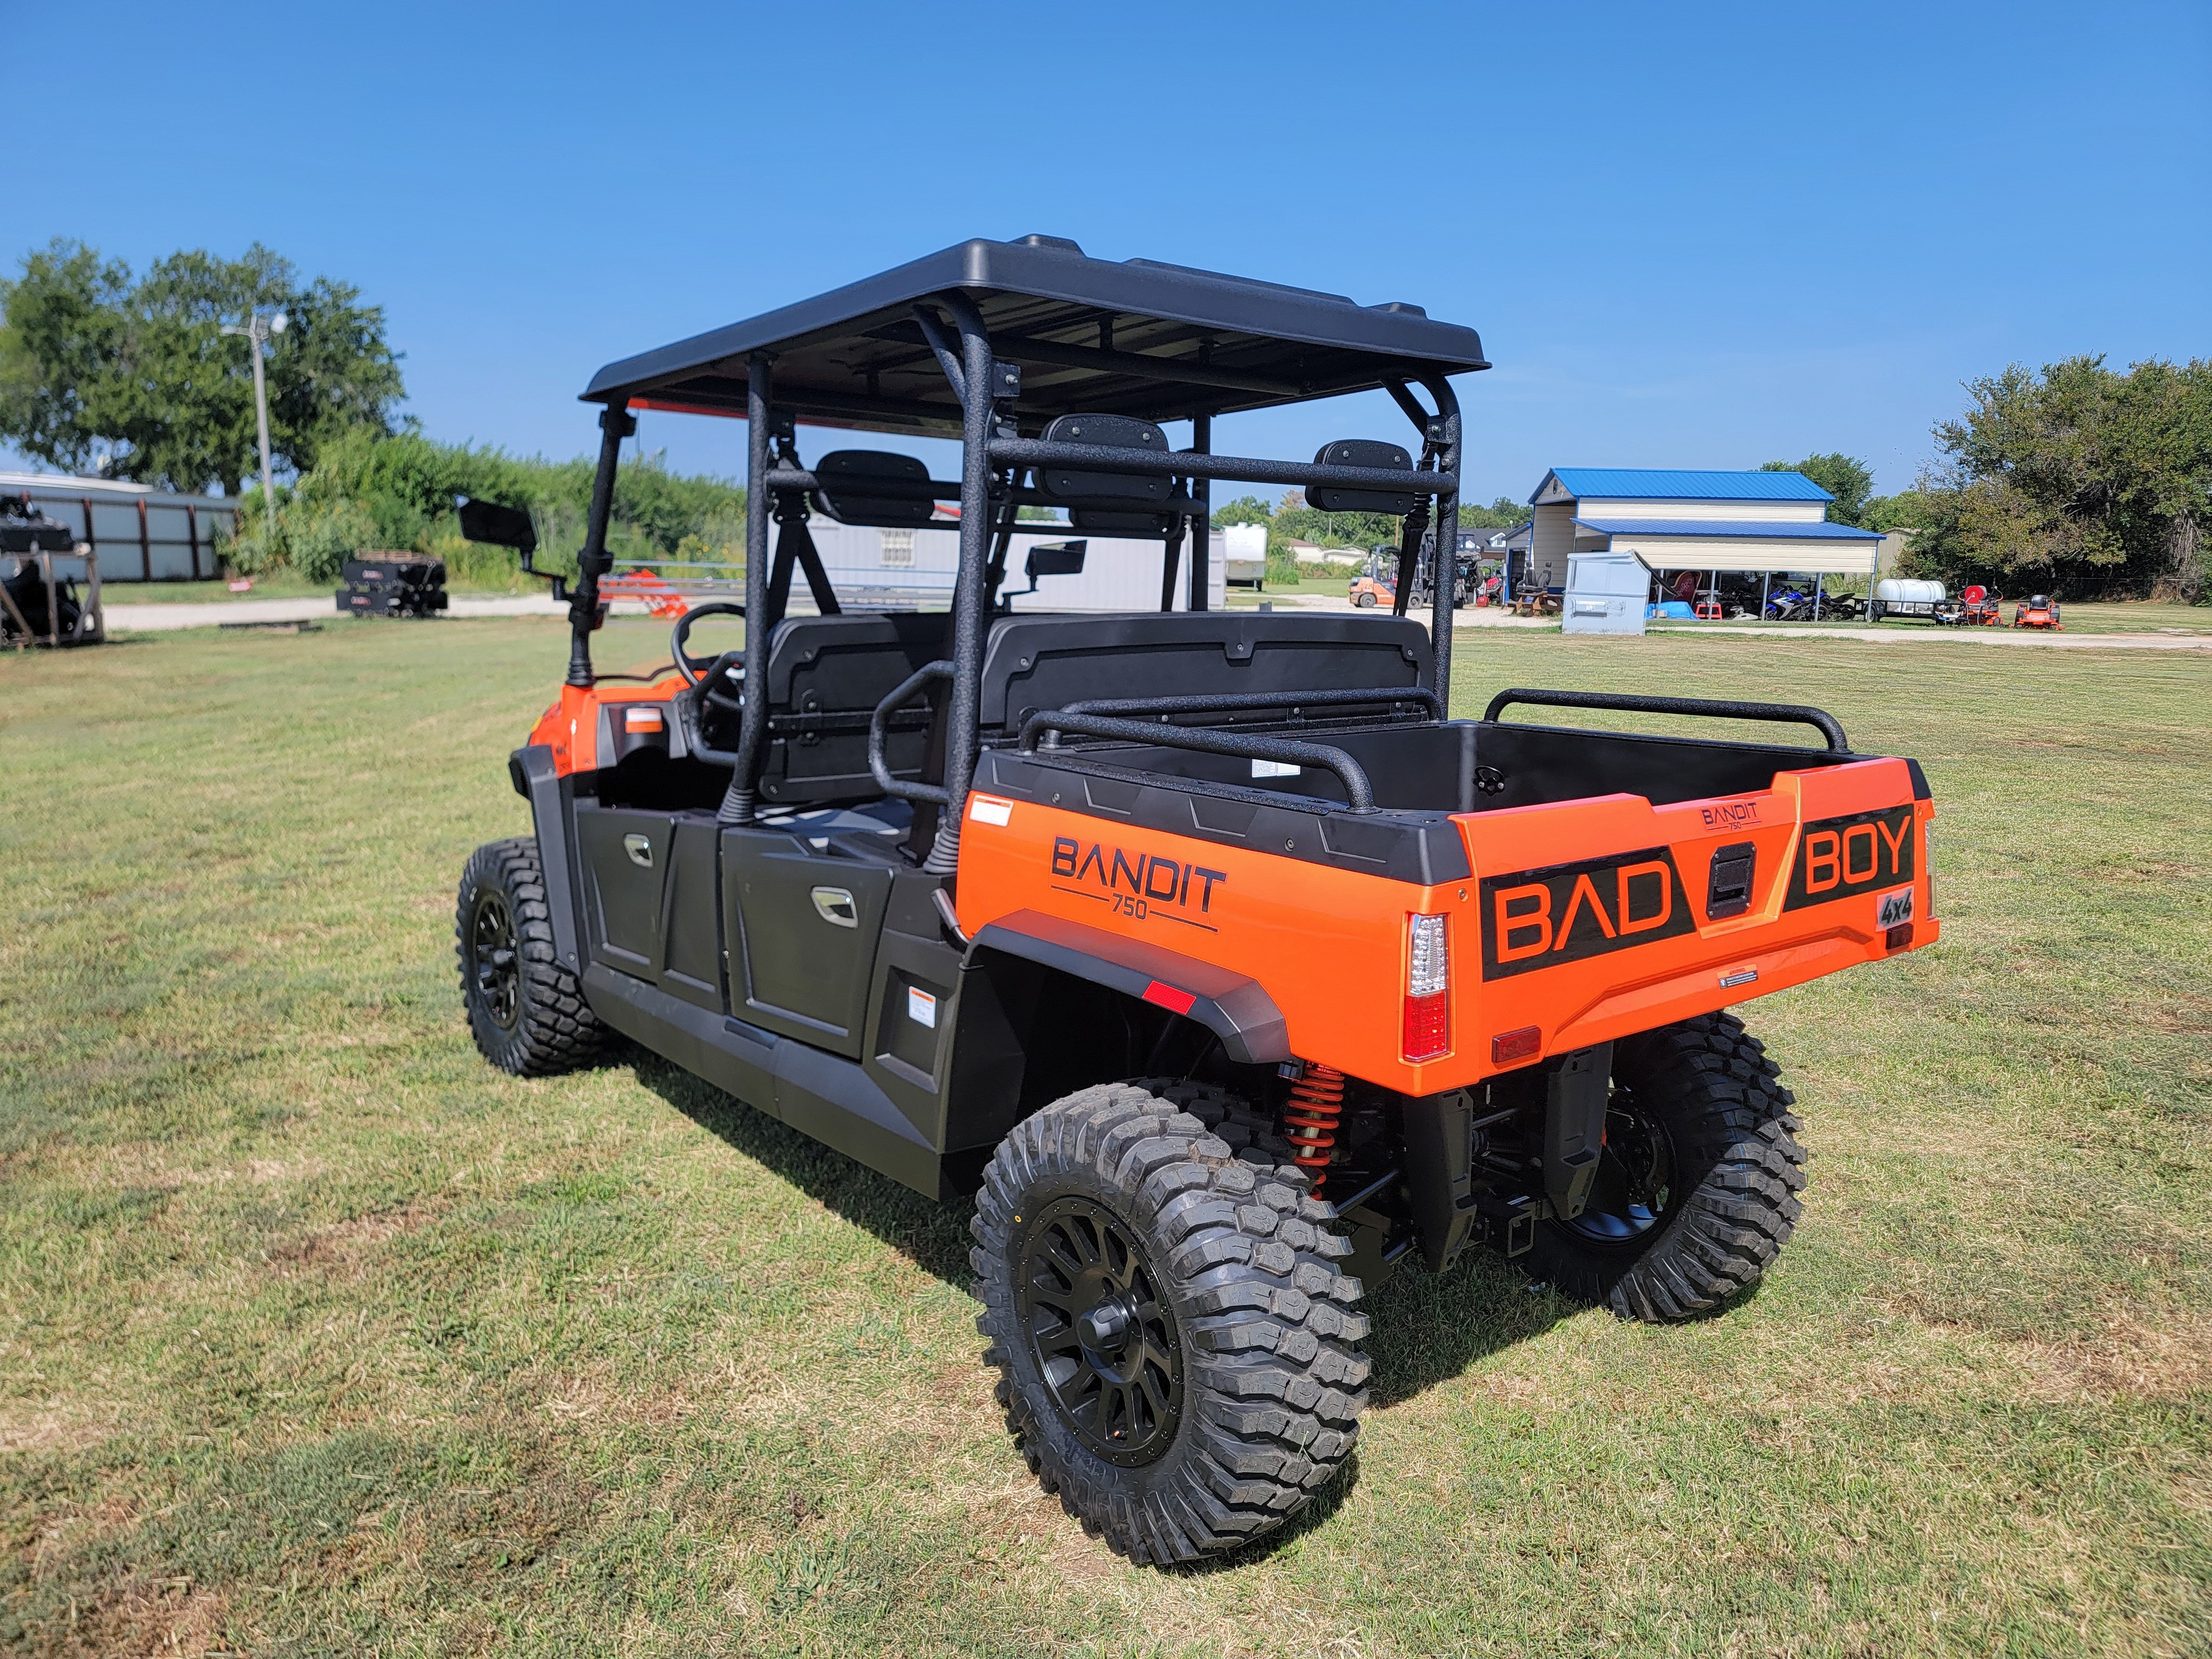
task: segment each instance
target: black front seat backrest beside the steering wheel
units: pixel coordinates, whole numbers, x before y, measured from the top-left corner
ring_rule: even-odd
[[[951,617],[942,611],[785,617],[776,624],[768,646],[761,799],[781,807],[814,807],[883,794],[867,770],[869,714],[898,681],[949,648]],[[920,779],[927,752],[929,701],[916,697],[891,721],[891,772]]]

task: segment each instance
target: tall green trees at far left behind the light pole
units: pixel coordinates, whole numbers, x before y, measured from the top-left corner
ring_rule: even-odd
[[[389,431],[405,396],[385,314],[361,290],[254,243],[241,259],[204,250],[122,261],[66,239],[0,283],[0,438],[58,467],[173,489],[239,493],[257,471],[252,345],[223,334],[250,310],[283,310],[270,347],[270,449],[305,473],[354,427]]]

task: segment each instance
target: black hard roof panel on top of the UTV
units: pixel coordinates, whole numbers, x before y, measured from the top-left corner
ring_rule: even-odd
[[[964,290],[1000,361],[1022,365],[1015,418],[1183,420],[1486,369],[1471,327],[1418,305],[1356,305],[1210,270],[1091,259],[1060,237],[962,241],[748,323],[608,363],[591,403],[745,414],[745,358],[776,358],[776,409],[812,425],[960,436],[960,405],[914,319]]]

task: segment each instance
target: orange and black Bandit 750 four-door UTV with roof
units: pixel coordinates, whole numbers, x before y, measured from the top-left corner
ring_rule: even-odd
[[[460,883],[476,1040],[520,1075],[644,1044],[973,1203],[1015,1444],[1137,1562],[1248,1544],[1345,1467],[1396,1270],[1491,1250],[1644,1321],[1745,1292],[1805,1152],[1732,1009],[1938,933],[1920,768],[1818,710],[1513,688],[1453,719],[1451,584],[1425,619],[1206,608],[1217,480],[1455,544],[1451,380],[1482,367],[1413,305],[1026,237],[584,392],[568,675],[509,763],[533,830]],[[1219,416],[1369,389],[1411,442],[1214,449]],[[637,409],[750,449],[743,602],[644,679],[591,657]],[[956,438],[960,476],[799,427]],[[1159,557],[1159,608],[1015,608],[1024,507]],[[956,540],[949,611],[845,608],[816,515]],[[531,562],[520,513],[465,531]],[[743,648],[695,646],[717,613]]]

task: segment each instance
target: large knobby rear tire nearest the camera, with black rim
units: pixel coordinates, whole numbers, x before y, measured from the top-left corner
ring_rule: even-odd
[[[1210,1133],[1197,1113],[1228,1119],[1228,1097],[1164,1088],[1099,1084],[1018,1124],[969,1256],[1031,1473],[1137,1564],[1281,1526],[1352,1455],[1367,1405],[1352,1245],[1303,1172]]]

